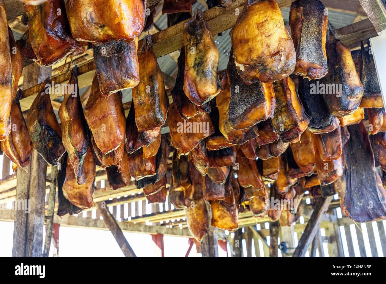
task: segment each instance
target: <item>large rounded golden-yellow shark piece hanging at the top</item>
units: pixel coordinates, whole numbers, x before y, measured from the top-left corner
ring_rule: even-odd
[[[295,47],[273,0],[245,2],[231,43],[237,72],[247,84],[278,81],[295,70]]]

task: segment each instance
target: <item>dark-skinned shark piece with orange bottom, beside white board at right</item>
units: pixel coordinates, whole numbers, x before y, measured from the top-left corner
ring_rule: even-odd
[[[363,84],[361,108],[383,108],[381,88],[379,88],[377,71],[372,54],[369,52],[370,40],[367,47],[361,41],[361,52],[358,54],[359,78]]]

